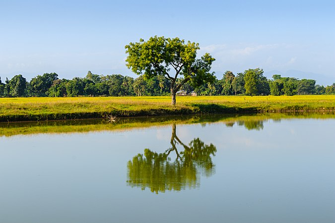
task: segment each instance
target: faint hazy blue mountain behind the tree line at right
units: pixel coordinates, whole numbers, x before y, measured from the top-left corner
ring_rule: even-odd
[[[280,74],[282,77],[295,77],[299,80],[313,79],[316,80],[316,84],[324,86],[332,85],[333,83],[335,83],[335,77],[330,77],[319,73],[304,72],[300,70],[287,70],[286,72],[272,70],[264,72],[264,76],[266,76],[268,79],[272,79],[273,74]]]

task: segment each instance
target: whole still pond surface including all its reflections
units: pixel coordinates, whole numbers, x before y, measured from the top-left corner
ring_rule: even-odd
[[[335,115],[123,122],[0,125],[0,223],[335,222]]]

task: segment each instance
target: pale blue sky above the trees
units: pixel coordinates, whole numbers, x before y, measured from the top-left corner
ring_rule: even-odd
[[[136,75],[125,46],[179,37],[211,54],[218,79],[263,68],[335,82],[334,0],[0,0],[0,77]]]

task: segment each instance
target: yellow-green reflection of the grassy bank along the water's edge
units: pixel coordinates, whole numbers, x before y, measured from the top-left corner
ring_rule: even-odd
[[[265,113],[265,114],[225,114],[225,115],[197,115],[197,116],[160,116],[142,118],[118,118],[113,123],[106,119],[87,120],[63,120],[63,121],[40,121],[40,122],[9,122],[0,123],[0,137],[19,134],[38,133],[70,133],[89,131],[125,131],[134,128],[148,128],[152,126],[164,126],[171,123],[192,124],[221,122],[226,126],[235,123],[243,125],[247,129],[263,129],[263,122],[268,119],[280,121],[287,118],[335,118],[334,113]]]

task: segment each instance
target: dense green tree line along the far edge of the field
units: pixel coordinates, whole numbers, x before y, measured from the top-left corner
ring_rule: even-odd
[[[335,83],[316,85],[313,79],[263,75],[263,69],[248,69],[236,75],[226,71],[221,79],[194,87],[184,83],[181,90],[198,95],[311,95],[335,94]],[[183,78],[176,80],[183,83]],[[0,97],[77,97],[77,96],[168,96],[170,82],[164,76],[137,78],[121,74],[98,75],[88,71],[84,78],[59,79],[57,73],[37,75],[29,82],[21,74],[4,83],[0,78]]]

